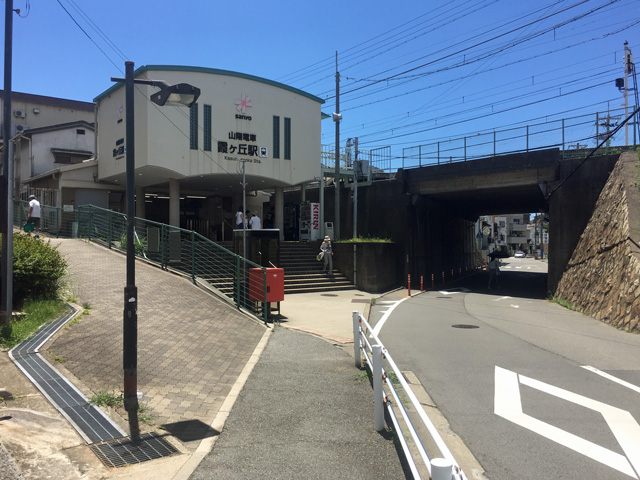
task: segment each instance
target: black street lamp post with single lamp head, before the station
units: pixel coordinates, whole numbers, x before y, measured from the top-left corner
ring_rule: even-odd
[[[111,78],[125,84],[125,134],[127,173],[127,284],[124,287],[124,315],[122,325],[122,367],[124,370],[124,407],[129,416],[131,437],[140,435],[138,425],[138,288],[136,287],[135,227],[135,128],[133,114],[134,84],[152,85],[161,90],[151,96],[157,105],[190,107],[200,96],[200,89],[186,83],[169,85],[162,80],[136,80],[133,62],[125,62],[125,78]]]

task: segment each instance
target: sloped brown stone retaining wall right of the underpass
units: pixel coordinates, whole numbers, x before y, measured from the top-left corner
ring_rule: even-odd
[[[623,153],[602,190],[556,298],[615,327],[640,332],[640,166]]]

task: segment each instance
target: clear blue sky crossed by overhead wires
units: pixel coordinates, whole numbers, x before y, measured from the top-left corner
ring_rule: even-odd
[[[74,100],[92,101],[132,60],[280,81],[326,99],[330,114],[337,52],[342,145],[357,136],[363,149],[388,146],[397,163],[437,142],[443,157],[460,157],[463,140],[447,140],[463,136],[470,151],[474,138],[491,148],[493,130],[512,148],[506,139],[527,124],[535,141],[554,143],[559,120],[534,125],[583,114],[593,115],[574,121],[574,137],[594,145],[595,112],[622,104],[614,81],[624,74],[624,41],[640,55],[639,0],[14,0],[14,8],[13,90]],[[334,136],[325,120],[322,142]]]

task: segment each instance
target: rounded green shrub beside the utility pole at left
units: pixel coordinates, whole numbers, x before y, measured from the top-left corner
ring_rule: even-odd
[[[29,299],[56,299],[67,262],[49,242],[13,235],[13,303]]]

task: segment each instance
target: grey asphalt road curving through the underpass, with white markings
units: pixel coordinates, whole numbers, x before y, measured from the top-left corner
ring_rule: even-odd
[[[481,272],[375,307],[381,341],[490,480],[639,478],[640,335],[546,300],[545,263],[502,263],[497,290]]]

